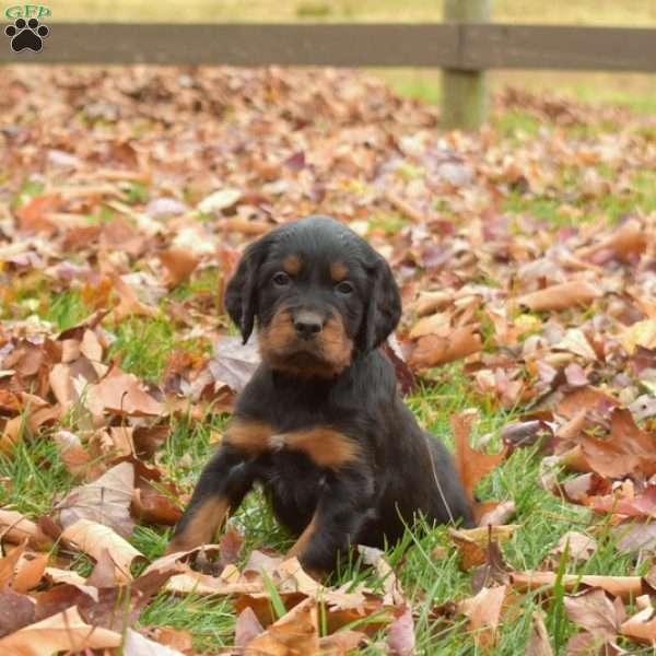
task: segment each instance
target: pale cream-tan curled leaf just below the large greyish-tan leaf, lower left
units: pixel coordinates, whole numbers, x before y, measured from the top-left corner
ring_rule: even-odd
[[[116,565],[116,581],[124,583],[132,578],[130,565],[136,558],[144,558],[129,542],[115,534],[109,527],[89,519],[78,519],[61,534],[71,547],[80,549],[98,560],[106,549]]]

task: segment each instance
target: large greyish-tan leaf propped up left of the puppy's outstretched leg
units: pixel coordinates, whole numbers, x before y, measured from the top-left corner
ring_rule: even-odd
[[[130,537],[134,528],[130,516],[133,487],[134,466],[120,462],[93,483],[74,488],[57,506],[62,528],[79,519],[90,519],[104,524],[119,536]]]

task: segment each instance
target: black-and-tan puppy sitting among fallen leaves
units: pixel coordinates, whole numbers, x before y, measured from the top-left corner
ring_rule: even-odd
[[[377,347],[401,315],[389,266],[328,216],[277,227],[244,253],[226,309],[262,363],[239,395],[167,551],[210,542],[254,483],[298,536],[290,554],[329,572],[351,543],[384,547],[422,513],[472,525],[444,445],[403,406]]]

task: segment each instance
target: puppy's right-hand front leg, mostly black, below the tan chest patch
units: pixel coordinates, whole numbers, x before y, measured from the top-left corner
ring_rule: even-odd
[[[372,506],[373,484],[361,472],[329,473],[311,523],[288,555],[314,573],[335,569],[338,554],[355,543]]]

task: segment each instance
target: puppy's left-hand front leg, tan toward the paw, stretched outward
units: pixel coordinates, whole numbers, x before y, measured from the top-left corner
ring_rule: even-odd
[[[242,454],[229,445],[221,447],[202,470],[166,553],[211,542],[227,513],[239,506],[253,487],[254,478],[253,467]]]

